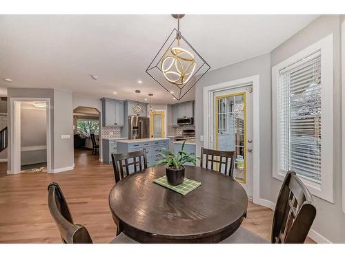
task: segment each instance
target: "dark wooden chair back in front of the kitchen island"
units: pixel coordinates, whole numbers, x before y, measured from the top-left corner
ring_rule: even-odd
[[[121,154],[112,153],[111,159],[114,168],[115,183],[125,178],[131,171],[137,172],[148,168],[146,149]]]

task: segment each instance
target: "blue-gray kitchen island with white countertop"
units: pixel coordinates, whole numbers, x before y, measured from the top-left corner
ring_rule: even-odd
[[[117,141],[117,153],[128,153],[146,149],[148,167],[153,166],[155,162],[161,159],[160,157],[156,157],[159,150],[161,148],[168,149],[168,147],[169,138],[146,138]]]

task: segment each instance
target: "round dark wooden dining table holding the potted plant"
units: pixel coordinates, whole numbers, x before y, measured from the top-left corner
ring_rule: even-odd
[[[185,177],[201,185],[181,195],[153,182],[165,174],[165,166],[151,167],[112,187],[109,206],[119,231],[140,243],[218,243],[239,228],[248,196],[233,178],[186,166]]]

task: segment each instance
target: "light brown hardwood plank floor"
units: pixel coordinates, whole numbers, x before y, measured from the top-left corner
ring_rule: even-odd
[[[75,169],[56,174],[6,175],[7,163],[0,162],[0,243],[61,243],[47,204],[53,181],[63,189],[75,223],[86,226],[95,243],[110,242],[116,232],[108,206],[114,175],[112,166],[98,158],[91,151],[75,151]],[[269,208],[248,202],[242,225],[270,241],[272,217]]]

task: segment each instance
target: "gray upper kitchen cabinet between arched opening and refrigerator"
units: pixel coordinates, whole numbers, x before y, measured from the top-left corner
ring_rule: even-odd
[[[103,127],[124,127],[124,101],[112,98],[101,100]]]

